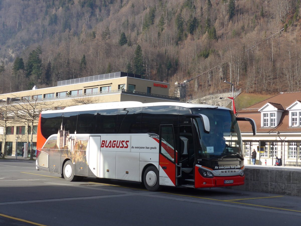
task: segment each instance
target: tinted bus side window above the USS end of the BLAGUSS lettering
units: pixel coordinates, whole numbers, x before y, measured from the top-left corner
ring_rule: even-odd
[[[142,108],[120,108],[118,110],[118,133],[140,133]]]

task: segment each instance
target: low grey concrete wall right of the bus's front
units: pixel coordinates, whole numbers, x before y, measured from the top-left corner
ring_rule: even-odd
[[[300,167],[245,166],[245,184],[231,187],[247,190],[301,196]]]

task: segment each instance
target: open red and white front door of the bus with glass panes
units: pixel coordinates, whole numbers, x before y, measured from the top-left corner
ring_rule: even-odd
[[[177,153],[173,125],[160,125],[159,184],[176,186]]]

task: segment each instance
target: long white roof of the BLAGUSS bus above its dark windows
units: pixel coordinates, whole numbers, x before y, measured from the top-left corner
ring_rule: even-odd
[[[133,107],[148,107],[148,106],[180,106],[186,108],[219,108],[227,109],[229,108],[221,106],[213,106],[207,104],[194,104],[194,103],[184,103],[184,102],[154,102],[154,103],[141,103],[138,101],[121,101],[121,102],[106,102],[106,103],[96,103],[96,104],[86,104],[86,105],[75,105],[66,107],[63,110],[48,110],[42,111],[42,114],[47,113],[59,113],[59,112],[70,112],[70,111],[92,111],[101,109],[115,109],[115,108],[133,108]]]

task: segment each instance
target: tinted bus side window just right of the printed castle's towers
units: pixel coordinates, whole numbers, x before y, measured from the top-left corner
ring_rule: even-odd
[[[95,133],[96,111],[79,111],[76,133]]]

